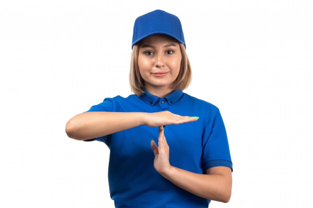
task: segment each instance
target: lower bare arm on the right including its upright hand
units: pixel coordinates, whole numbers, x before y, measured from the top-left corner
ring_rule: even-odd
[[[205,174],[185,171],[169,164],[169,147],[160,127],[158,147],[151,141],[154,152],[154,168],[164,178],[176,186],[205,199],[227,203],[231,195],[231,169],[228,167],[213,167]]]

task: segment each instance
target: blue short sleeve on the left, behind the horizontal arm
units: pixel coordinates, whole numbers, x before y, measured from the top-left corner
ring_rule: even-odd
[[[114,104],[113,100],[111,98],[105,98],[103,102],[93,105],[90,107],[89,110],[86,112],[113,112],[114,111]],[[93,139],[88,139],[88,140],[83,140],[85,142],[91,142],[91,141],[99,141],[99,142],[104,142],[108,148],[110,148],[110,135],[102,136],[102,137],[97,137]]]

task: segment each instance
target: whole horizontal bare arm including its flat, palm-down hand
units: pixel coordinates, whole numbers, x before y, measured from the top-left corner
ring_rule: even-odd
[[[65,132],[76,140],[93,139],[139,125],[150,127],[181,124],[196,121],[196,118],[180,116],[169,111],[142,112],[85,112],[75,115],[66,123]]]

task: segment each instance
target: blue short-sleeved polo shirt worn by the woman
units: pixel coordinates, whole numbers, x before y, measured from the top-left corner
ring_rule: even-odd
[[[105,98],[90,111],[159,112],[198,116],[195,122],[166,125],[164,135],[172,166],[203,174],[206,169],[232,169],[225,127],[214,105],[174,90],[164,98],[147,91],[141,96]],[[207,208],[210,200],[197,197],[159,175],[154,167],[150,140],[157,144],[158,127],[145,125],[97,140],[110,149],[108,183],[115,208]]]

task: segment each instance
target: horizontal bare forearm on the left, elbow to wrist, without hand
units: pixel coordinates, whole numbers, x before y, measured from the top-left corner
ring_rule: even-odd
[[[140,112],[85,112],[66,123],[65,132],[76,140],[92,139],[143,124]]]

